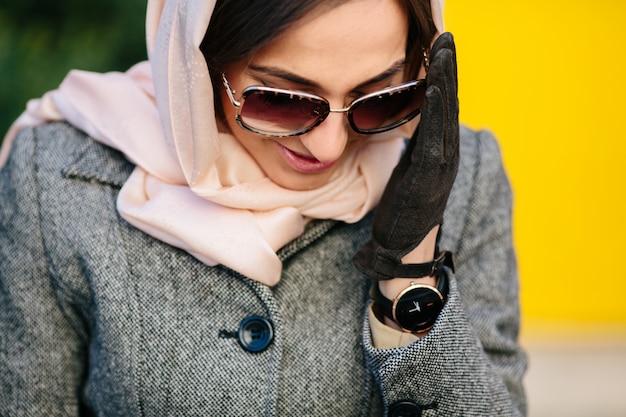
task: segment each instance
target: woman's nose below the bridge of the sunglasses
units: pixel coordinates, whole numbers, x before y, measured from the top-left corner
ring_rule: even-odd
[[[313,157],[321,162],[334,162],[343,154],[350,127],[343,113],[331,113],[319,126],[300,136]]]

